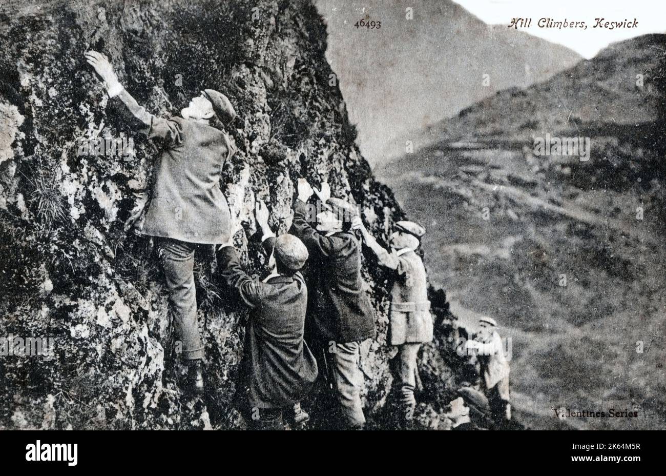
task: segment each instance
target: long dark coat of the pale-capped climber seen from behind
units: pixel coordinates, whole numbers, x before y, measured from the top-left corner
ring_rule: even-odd
[[[264,241],[270,254],[274,238]],[[303,340],[308,289],[300,273],[250,278],[233,247],[217,255],[222,276],[252,310],[236,385],[236,404],[245,408],[293,405],[317,377],[314,356]]]

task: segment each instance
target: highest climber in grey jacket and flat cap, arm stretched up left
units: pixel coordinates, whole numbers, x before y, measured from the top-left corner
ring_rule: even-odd
[[[85,57],[103,79],[109,97],[120,99],[138,119],[139,131],[164,139],[165,151],[155,163],[153,197],[141,232],[157,238],[170,305],[182,337],[182,355],[188,361],[188,382],[201,393],[204,347],[196,319],[194,250],[197,245],[226,243],[230,238],[230,213],[220,189],[220,173],[234,149],[211,122],[217,117],[227,125],[236,113],[226,96],[206,89],[180,111],[181,117],[157,117],[125,91],[104,55],[87,51]]]

